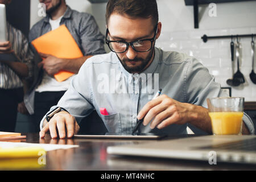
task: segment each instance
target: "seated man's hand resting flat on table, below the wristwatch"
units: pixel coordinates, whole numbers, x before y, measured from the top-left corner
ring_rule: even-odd
[[[44,127],[40,131],[40,138],[44,138],[46,133],[49,131],[52,138],[57,138],[59,134],[60,138],[73,137],[77,134],[80,127],[76,122],[76,119],[66,111],[60,111],[53,115],[49,122],[44,119]]]

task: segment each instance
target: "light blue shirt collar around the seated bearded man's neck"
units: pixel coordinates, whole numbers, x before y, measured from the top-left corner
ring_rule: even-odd
[[[117,55],[116,55],[116,57],[117,57]],[[145,69],[143,72],[138,73],[138,74],[137,73],[129,73],[129,72],[127,72],[126,69],[123,67],[122,63],[119,61],[118,57],[117,57],[117,60],[118,60],[119,67],[121,68],[121,71],[127,77],[132,77],[132,76],[135,76],[135,75],[140,75],[142,73],[144,73],[144,74],[154,73],[156,68],[158,67],[158,63],[159,63],[159,50],[157,48],[155,48],[155,55],[154,55],[154,59],[153,59],[152,63],[150,64],[149,67],[147,67],[147,69]]]

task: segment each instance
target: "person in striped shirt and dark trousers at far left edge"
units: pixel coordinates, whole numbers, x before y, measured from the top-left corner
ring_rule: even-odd
[[[11,0],[0,0],[9,4]],[[0,54],[14,53],[16,61],[0,59],[0,131],[14,131],[23,86],[33,75],[34,55],[22,32],[7,22],[7,41],[0,42]],[[26,84],[25,84],[26,85]]]

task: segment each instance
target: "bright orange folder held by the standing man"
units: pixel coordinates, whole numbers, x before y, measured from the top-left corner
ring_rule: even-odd
[[[82,57],[82,52],[68,28],[63,24],[59,28],[48,32],[33,40],[31,44],[36,51],[46,53],[63,59],[76,59]],[[59,82],[67,80],[74,73],[68,71],[60,71],[54,75]]]

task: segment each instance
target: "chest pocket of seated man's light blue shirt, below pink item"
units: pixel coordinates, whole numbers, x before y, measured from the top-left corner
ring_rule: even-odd
[[[109,133],[122,133],[121,119],[120,119],[119,113],[110,114],[110,115],[101,114],[101,118],[106,126],[106,129],[108,129]]]

